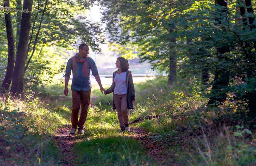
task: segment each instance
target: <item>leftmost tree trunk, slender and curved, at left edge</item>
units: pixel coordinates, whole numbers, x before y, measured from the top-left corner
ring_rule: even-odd
[[[4,7],[10,7],[10,1],[4,1]],[[13,25],[11,20],[11,13],[4,13],[5,18],[5,25],[6,25],[6,33],[7,33],[7,40],[8,40],[8,64],[7,70],[4,77],[4,81],[1,85],[1,88],[4,90],[8,90],[10,84],[12,82],[13,76],[13,67],[14,67],[14,59],[15,59],[15,40],[13,35]]]

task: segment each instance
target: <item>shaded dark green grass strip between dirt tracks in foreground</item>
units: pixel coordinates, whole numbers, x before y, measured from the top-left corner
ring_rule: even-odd
[[[82,141],[74,152],[76,165],[143,165],[150,161],[138,141],[123,136]]]

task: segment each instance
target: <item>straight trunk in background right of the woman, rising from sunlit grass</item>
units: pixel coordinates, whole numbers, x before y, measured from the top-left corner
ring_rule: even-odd
[[[177,59],[176,59],[176,38],[172,35],[173,30],[175,29],[175,25],[171,24],[169,29],[170,34],[170,46],[169,46],[169,77],[168,77],[168,84],[172,84],[176,81],[177,76]]]

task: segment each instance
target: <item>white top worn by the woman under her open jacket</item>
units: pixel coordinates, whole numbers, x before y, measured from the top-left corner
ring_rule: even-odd
[[[126,71],[122,72],[121,74],[118,74],[116,72],[114,82],[115,82],[114,94],[124,95],[127,93]]]

